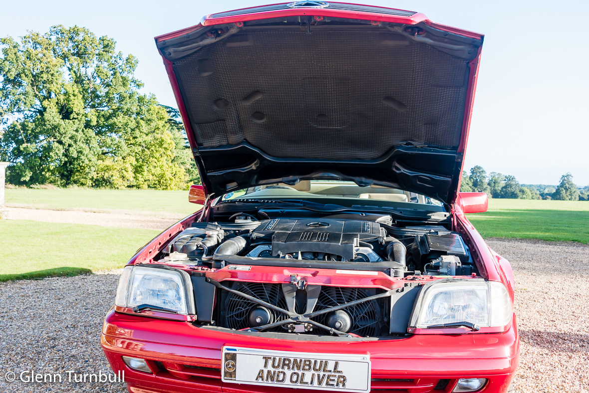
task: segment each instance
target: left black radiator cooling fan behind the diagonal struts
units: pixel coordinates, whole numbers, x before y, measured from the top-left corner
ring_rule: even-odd
[[[261,282],[244,282],[236,288],[243,294],[260,299],[282,309],[287,309],[286,300],[280,284],[264,284]],[[287,316],[282,312],[263,307],[256,302],[240,295],[229,293],[225,303],[225,327],[230,329],[244,329],[259,327],[282,321]],[[280,327],[272,329],[284,331]]]

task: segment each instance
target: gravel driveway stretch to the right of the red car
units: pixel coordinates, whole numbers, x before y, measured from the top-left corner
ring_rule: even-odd
[[[517,392],[589,392],[589,246],[488,240],[509,259],[521,344]]]

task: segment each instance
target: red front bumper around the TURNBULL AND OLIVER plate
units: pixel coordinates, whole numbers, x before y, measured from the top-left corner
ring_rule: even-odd
[[[451,392],[458,378],[487,378],[485,393],[505,393],[519,361],[514,321],[495,334],[413,335],[376,341],[296,341],[252,337],[198,328],[188,322],[121,314],[111,310],[101,344],[114,372],[125,372],[130,392],[273,392],[268,388],[221,382],[223,345],[279,351],[370,354],[372,392]],[[154,374],[134,371],[122,356],[146,359]],[[448,379],[443,389],[435,389]],[[443,385],[443,384],[442,384]],[[441,385],[438,385],[438,387]],[[320,392],[297,389],[296,392]]]

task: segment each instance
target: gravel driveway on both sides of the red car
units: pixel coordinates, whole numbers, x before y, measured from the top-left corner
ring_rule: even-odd
[[[514,267],[517,392],[589,392],[589,247],[489,240]],[[0,283],[0,392],[125,392],[115,383],[6,382],[5,372],[109,372],[99,344],[117,272]],[[73,375],[73,374],[72,374]]]

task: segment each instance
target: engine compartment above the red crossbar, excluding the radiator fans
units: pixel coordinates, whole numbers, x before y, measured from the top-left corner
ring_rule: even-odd
[[[219,268],[274,261],[280,266],[378,270],[391,277],[478,274],[461,235],[442,225],[237,217],[234,222],[193,223],[168,244],[161,262]]]

